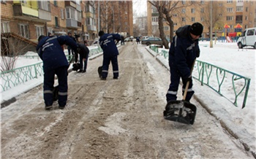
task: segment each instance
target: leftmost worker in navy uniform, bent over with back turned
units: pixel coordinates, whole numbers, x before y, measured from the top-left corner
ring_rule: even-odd
[[[67,104],[67,69],[68,61],[61,45],[67,44],[73,50],[77,49],[76,42],[69,36],[39,36],[37,53],[42,59],[44,71],[43,96],[45,109],[53,107],[53,85],[55,74],[59,82],[59,109]]]

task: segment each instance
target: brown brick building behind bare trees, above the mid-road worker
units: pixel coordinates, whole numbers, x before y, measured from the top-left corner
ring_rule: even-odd
[[[132,1],[95,1],[95,4],[99,30],[133,35]]]

